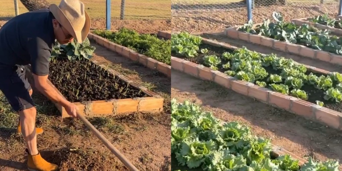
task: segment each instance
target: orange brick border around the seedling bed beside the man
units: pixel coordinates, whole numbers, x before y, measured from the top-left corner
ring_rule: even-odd
[[[108,116],[113,114],[123,114],[123,113],[131,113],[131,112],[139,112],[139,111],[147,111],[151,113],[157,113],[163,111],[163,102],[164,98],[159,96],[158,94],[148,90],[146,87],[135,83],[132,80],[129,80],[127,77],[121,75],[117,71],[107,68],[107,66],[101,64],[100,62],[94,60],[93,58],[90,61],[101,67],[102,69],[106,69],[109,73],[113,74],[114,77],[119,77],[124,82],[127,82],[130,86],[141,90],[145,94],[150,97],[135,97],[135,98],[123,98],[123,99],[110,99],[110,100],[99,100],[99,101],[85,101],[85,102],[73,102],[81,111],[81,114],[85,117],[100,117],[100,116]],[[26,66],[27,71],[30,75],[31,65]],[[52,84],[50,80],[48,80],[48,84],[52,86],[56,92],[61,95],[63,98],[64,95]],[[31,84],[34,86],[34,84]],[[65,108],[60,104],[53,102],[56,108],[60,111],[62,118],[70,117]]]

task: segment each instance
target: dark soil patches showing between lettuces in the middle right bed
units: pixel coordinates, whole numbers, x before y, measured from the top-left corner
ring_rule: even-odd
[[[208,49],[208,52],[206,54],[203,54],[200,52],[201,49],[205,49],[207,48]],[[232,53],[233,50],[230,50],[230,49],[226,49],[226,48],[223,48],[223,47],[215,47],[213,45],[210,45],[210,44],[201,44],[199,46],[199,51],[198,51],[198,55],[195,56],[194,58],[186,58],[185,56],[182,56],[180,54],[176,54],[175,52],[172,52],[172,56],[175,56],[175,57],[179,57],[179,58],[182,58],[184,60],[187,60],[187,61],[191,61],[191,62],[194,62],[196,64],[202,64],[206,67],[209,67],[208,65],[206,65],[204,63],[204,60],[203,60],[203,57],[205,55],[216,55],[216,56],[221,56],[222,53],[224,52],[229,52],[229,53]],[[222,73],[224,73],[224,71],[227,71],[228,69],[224,69],[222,68],[222,64],[226,64],[228,61],[227,60],[224,60],[221,58],[221,64],[218,65],[218,68],[219,68],[219,71],[221,71]],[[280,75],[280,71],[278,70],[274,70],[272,67],[264,67],[267,71],[268,74],[278,74]],[[309,71],[306,72],[307,75],[310,74]],[[321,74],[318,74],[318,73],[315,73],[315,75],[317,75],[318,77],[321,76]],[[266,77],[265,79],[263,80],[259,80],[259,81],[265,81],[268,85],[268,82],[267,82],[267,78]],[[283,82],[282,82],[283,83]],[[336,86],[336,83],[334,82],[333,83],[333,87]],[[269,88],[268,86],[266,86],[266,88]],[[293,88],[289,88],[289,92],[292,90]],[[309,84],[304,84],[304,86],[301,88],[301,90],[304,90],[307,95],[308,95],[308,102],[311,102],[311,103],[314,103],[316,104],[316,101],[321,101],[324,103],[324,107],[326,108],[329,108],[329,109],[332,109],[332,110],[335,110],[335,111],[338,111],[338,112],[342,112],[342,103],[336,103],[336,102],[332,102],[332,101],[327,101],[324,99],[324,96],[325,96],[325,90],[318,90],[316,89],[313,85],[309,85]]]

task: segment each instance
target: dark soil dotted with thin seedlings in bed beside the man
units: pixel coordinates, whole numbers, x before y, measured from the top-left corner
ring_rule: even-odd
[[[70,102],[148,97],[88,60],[57,58],[49,67],[49,80]]]

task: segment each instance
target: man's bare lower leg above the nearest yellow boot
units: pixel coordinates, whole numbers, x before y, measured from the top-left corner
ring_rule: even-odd
[[[37,110],[35,107],[19,111],[21,132],[24,136],[28,152],[31,155],[38,154],[36,135],[36,115]]]

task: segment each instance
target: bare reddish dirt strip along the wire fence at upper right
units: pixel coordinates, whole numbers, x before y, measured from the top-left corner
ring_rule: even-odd
[[[317,1],[318,2],[318,1]],[[200,5],[197,5],[200,6]],[[221,5],[225,9],[206,10],[172,10],[172,31],[205,32],[218,31],[226,27],[243,25],[247,22],[247,8],[232,5]],[[284,16],[285,21],[293,18],[304,18],[329,13],[337,16],[338,3],[288,3],[287,6],[256,6],[253,11],[253,22],[261,23],[263,18],[272,20],[272,12]]]

